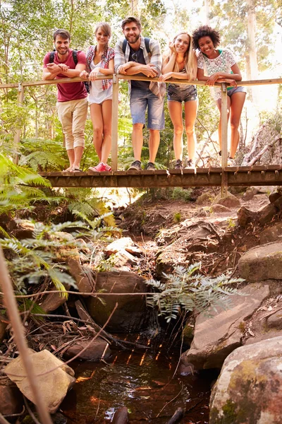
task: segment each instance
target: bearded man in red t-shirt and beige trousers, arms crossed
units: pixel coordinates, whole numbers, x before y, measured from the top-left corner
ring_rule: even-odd
[[[71,35],[67,30],[54,32],[54,61],[50,63],[50,52],[43,61],[43,79],[74,78],[86,69],[85,53],[78,51],[78,63],[73,60],[73,49],[70,49]],[[80,171],[80,160],[85,146],[84,127],[87,118],[87,91],[84,83],[57,84],[58,102],[56,109],[63,127],[66,140],[66,151],[70,166],[66,171]]]

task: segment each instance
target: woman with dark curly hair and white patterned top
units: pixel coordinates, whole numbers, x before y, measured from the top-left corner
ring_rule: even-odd
[[[231,115],[231,150],[229,156],[229,165],[233,165],[238,143],[240,117],[246,97],[246,89],[237,87],[237,81],[242,81],[242,76],[238,64],[233,54],[228,49],[218,49],[220,43],[219,33],[203,25],[194,31],[193,46],[200,50],[197,55],[197,79],[207,81],[207,86],[214,86],[214,83],[229,83],[231,87],[227,88],[227,107],[228,119]],[[216,105],[221,114],[221,88],[212,87],[212,94]],[[221,149],[221,118],[219,121],[219,148]],[[219,152],[221,155],[221,151]]]

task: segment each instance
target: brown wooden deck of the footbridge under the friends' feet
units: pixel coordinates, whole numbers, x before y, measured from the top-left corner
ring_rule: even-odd
[[[282,165],[210,167],[184,170],[40,172],[53,187],[221,187],[282,185]]]

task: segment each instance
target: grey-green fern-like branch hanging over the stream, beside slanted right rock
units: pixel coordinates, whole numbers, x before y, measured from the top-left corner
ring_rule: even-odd
[[[228,274],[210,278],[196,273],[200,266],[200,263],[192,264],[188,269],[176,266],[174,273],[164,273],[165,283],[147,281],[147,284],[159,290],[148,296],[148,305],[157,306],[159,314],[165,315],[167,322],[175,319],[181,309],[202,312],[212,307],[217,312],[219,308],[228,307],[231,303],[230,295],[237,293],[229,285],[243,281],[242,278],[231,278]]]

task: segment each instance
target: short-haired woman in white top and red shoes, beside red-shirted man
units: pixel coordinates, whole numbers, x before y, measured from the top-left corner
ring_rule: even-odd
[[[87,70],[82,78],[90,80],[90,114],[93,124],[93,144],[97,151],[99,164],[89,169],[102,172],[110,171],[107,160],[111,152],[111,104],[112,80],[97,79],[97,76],[114,73],[114,49],[109,47],[111,27],[108,23],[98,23],[95,28],[96,46],[90,46],[86,54]]]

